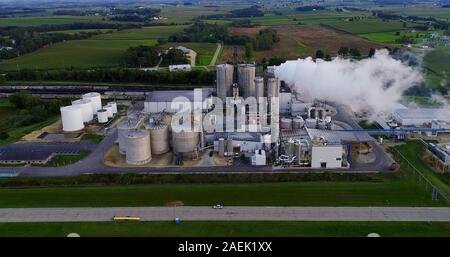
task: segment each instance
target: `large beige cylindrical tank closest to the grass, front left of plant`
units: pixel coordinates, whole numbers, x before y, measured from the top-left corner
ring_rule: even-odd
[[[151,161],[150,133],[148,131],[129,131],[125,140],[128,164],[142,165]]]

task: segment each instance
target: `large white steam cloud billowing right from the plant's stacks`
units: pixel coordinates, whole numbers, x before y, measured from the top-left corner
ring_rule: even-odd
[[[339,102],[355,112],[374,113],[393,110],[402,93],[422,81],[419,71],[393,59],[387,50],[361,61],[336,58],[325,62],[310,57],[287,61],[275,68],[275,74],[313,100]]]

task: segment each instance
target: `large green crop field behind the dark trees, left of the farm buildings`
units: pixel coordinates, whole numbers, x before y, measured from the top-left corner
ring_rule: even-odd
[[[186,26],[153,26],[101,34],[86,40],[54,44],[18,58],[0,62],[0,70],[115,67],[131,46],[153,46]],[[205,50],[207,51],[207,50]]]

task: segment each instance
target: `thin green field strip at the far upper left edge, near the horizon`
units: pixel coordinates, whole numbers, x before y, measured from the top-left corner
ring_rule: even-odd
[[[101,22],[101,17],[94,16],[42,16],[42,17],[14,17],[0,18],[0,27],[6,26],[39,26],[53,24],[70,24],[76,22]]]

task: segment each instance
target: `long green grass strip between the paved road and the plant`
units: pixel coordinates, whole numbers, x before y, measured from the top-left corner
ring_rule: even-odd
[[[0,208],[166,206],[442,206],[411,175],[377,175],[373,182],[149,184],[2,188]]]

